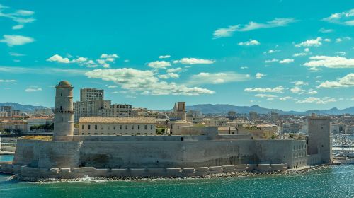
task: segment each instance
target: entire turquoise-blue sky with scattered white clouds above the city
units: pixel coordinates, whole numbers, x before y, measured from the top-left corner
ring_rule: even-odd
[[[0,1],[0,102],[354,106],[350,1]]]

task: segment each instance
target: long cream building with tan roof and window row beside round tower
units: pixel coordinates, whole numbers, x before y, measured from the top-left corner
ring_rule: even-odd
[[[80,117],[79,135],[155,135],[153,117]]]

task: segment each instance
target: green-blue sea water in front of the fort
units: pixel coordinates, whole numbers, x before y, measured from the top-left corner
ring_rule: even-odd
[[[12,156],[0,156],[0,161]],[[0,175],[0,197],[354,197],[354,165],[301,175],[29,183]]]

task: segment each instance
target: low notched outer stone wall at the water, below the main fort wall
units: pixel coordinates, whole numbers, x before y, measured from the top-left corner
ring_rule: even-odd
[[[271,172],[287,170],[285,164],[258,164],[254,165],[260,172]],[[89,177],[202,177],[205,175],[219,173],[244,172],[249,169],[249,165],[223,165],[197,168],[31,168],[28,166],[11,165],[0,163],[0,173],[12,173],[21,175],[23,178],[40,180],[46,178],[55,179],[75,179]]]

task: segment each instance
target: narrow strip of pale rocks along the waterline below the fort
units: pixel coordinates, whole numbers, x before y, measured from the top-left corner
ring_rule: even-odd
[[[21,180],[25,182],[91,182],[91,181],[124,181],[124,180],[154,180],[154,179],[188,179],[188,178],[228,178],[228,177],[258,177],[258,176],[267,176],[267,175],[298,175],[302,173],[307,173],[312,170],[324,170],[331,167],[332,165],[339,164],[324,164],[311,166],[309,168],[304,168],[302,170],[283,170],[283,171],[274,171],[274,172],[260,172],[258,170],[253,171],[242,171],[242,172],[229,172],[229,173],[216,173],[203,176],[192,176],[192,177],[84,177],[84,178],[75,178],[75,179],[53,179],[53,178],[32,178],[32,177],[21,177],[19,175],[11,176],[13,180]]]

